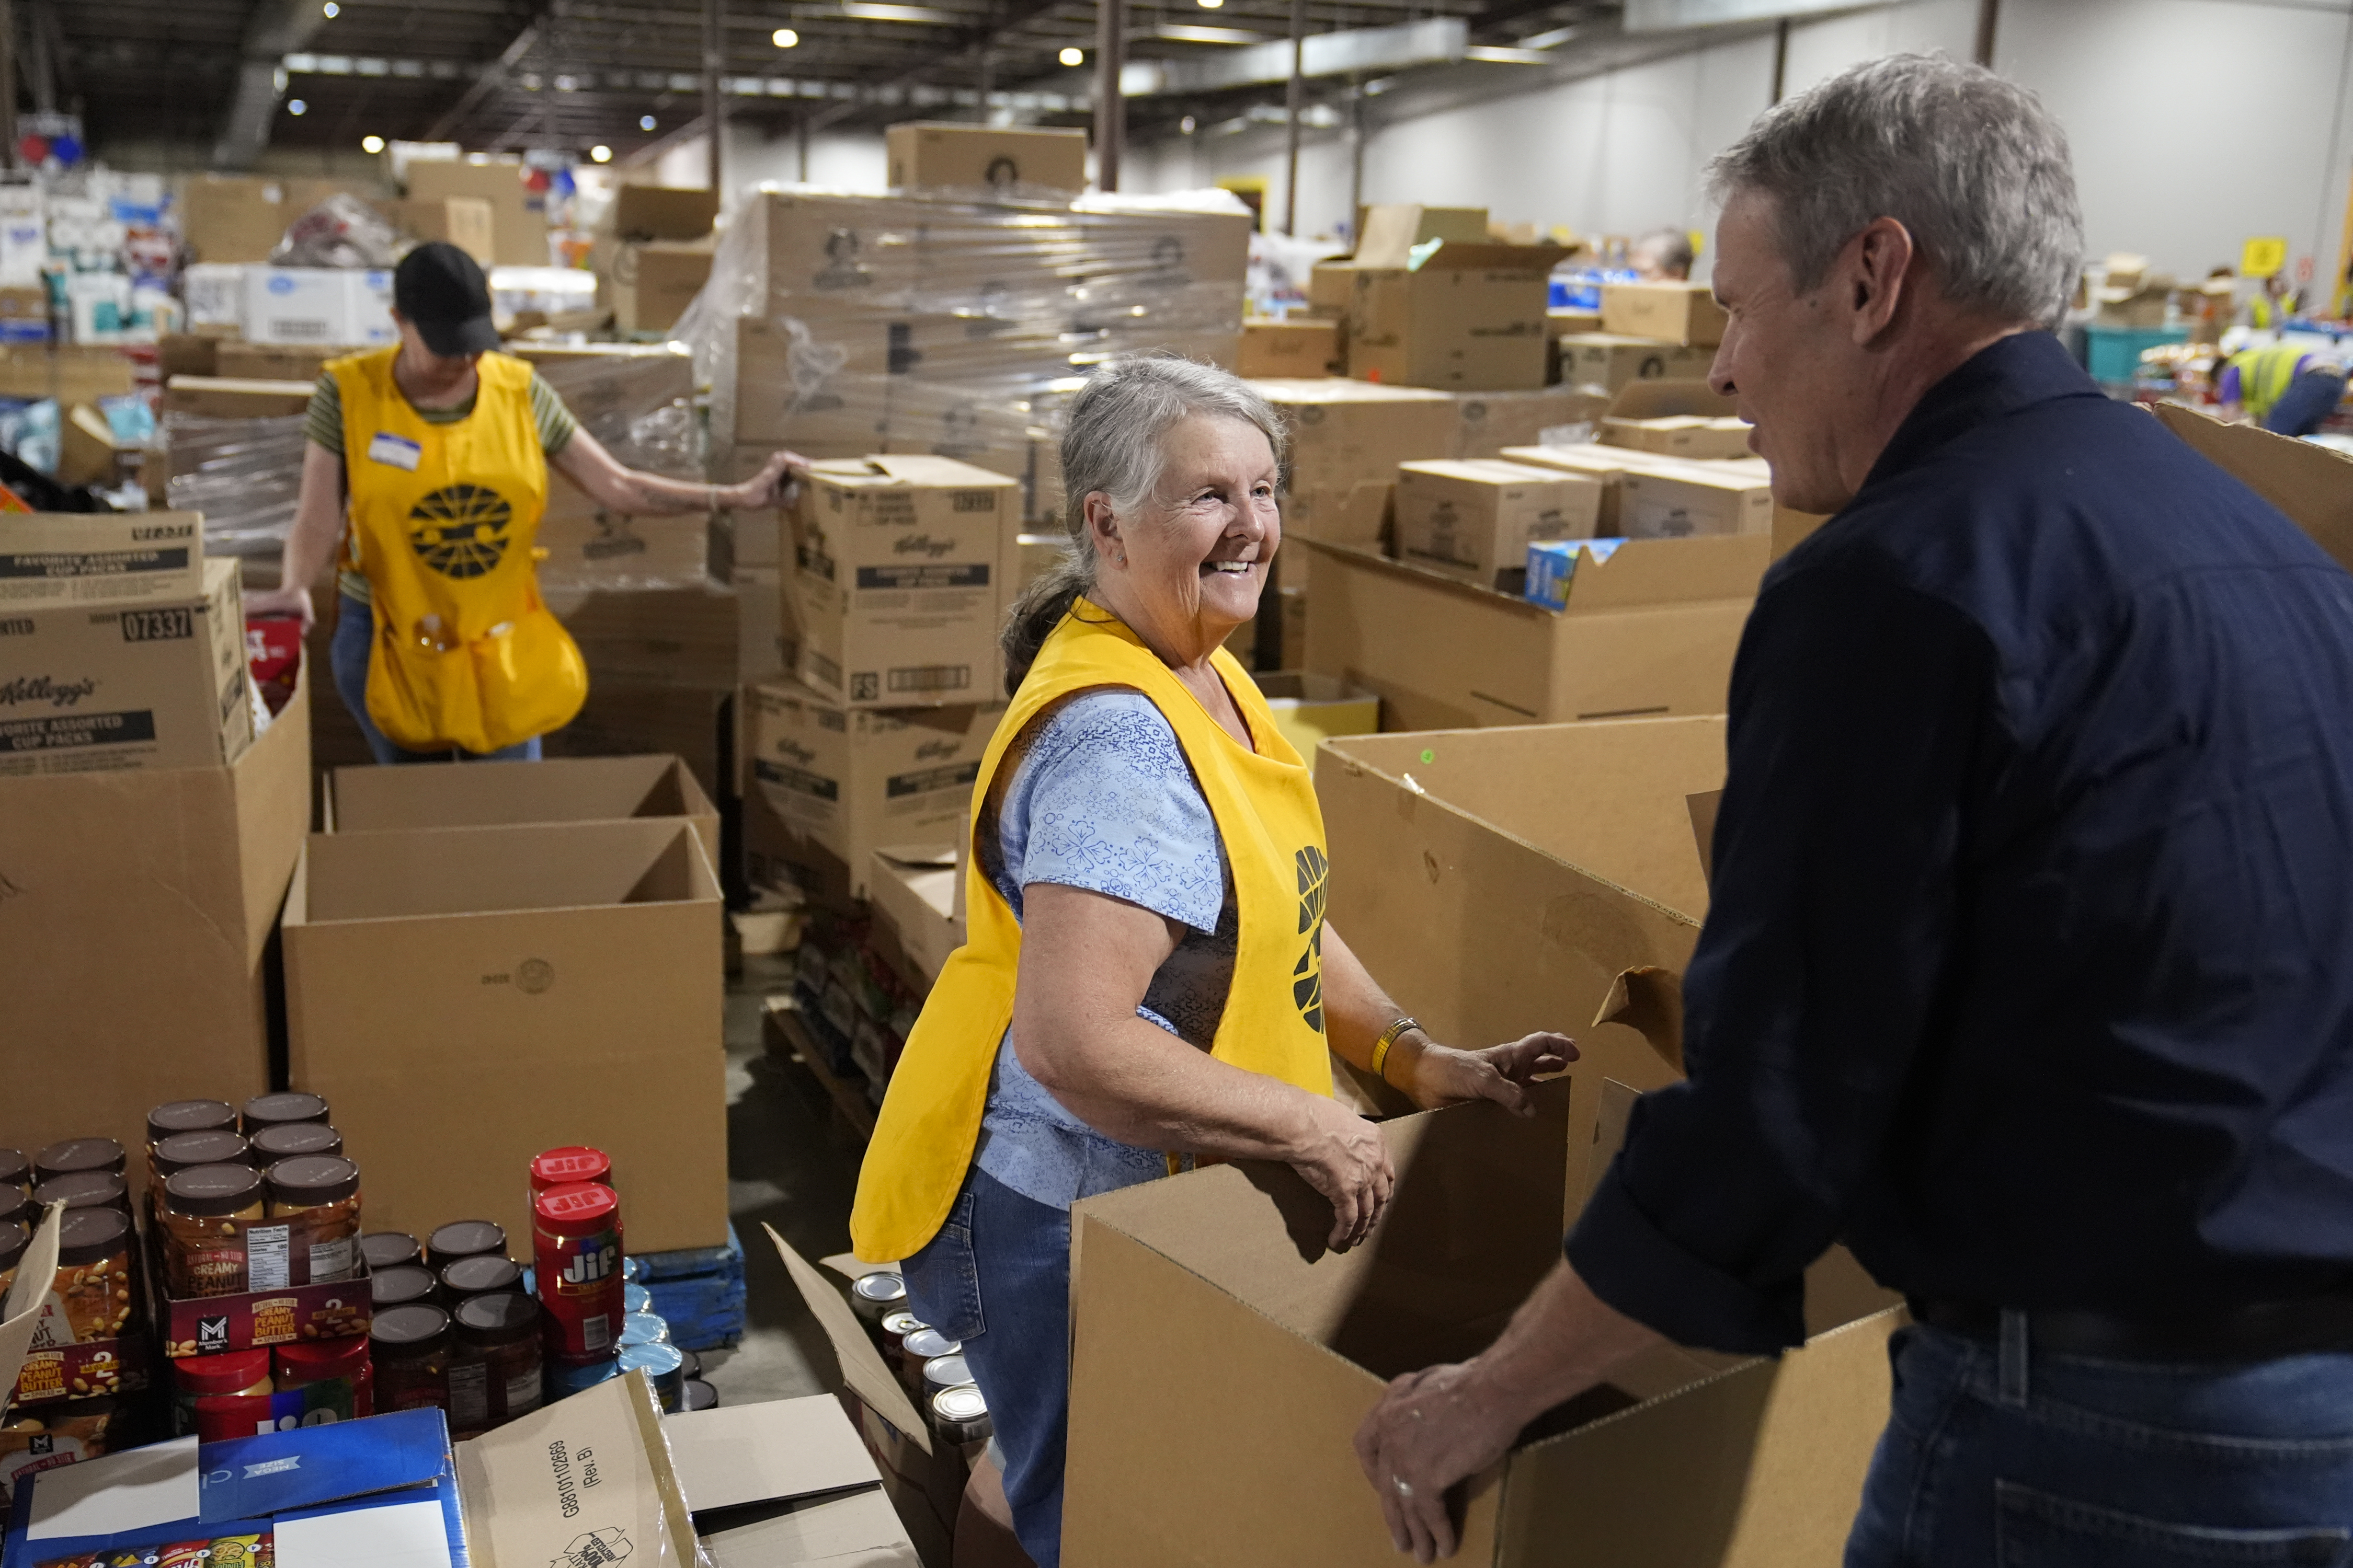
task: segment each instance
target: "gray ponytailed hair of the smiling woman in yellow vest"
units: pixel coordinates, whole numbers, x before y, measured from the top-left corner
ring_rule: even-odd
[[[1247,381],[1214,364],[1174,355],[1141,355],[1104,364],[1071,404],[1061,433],[1064,557],[1047,567],[1014,599],[1000,642],[1005,646],[1005,696],[1038,661],[1047,635],[1071,614],[1080,595],[1094,592],[1094,545],[1087,538],[1087,496],[1111,496],[1120,517],[1139,510],[1160,484],[1167,463],[1162,437],[1191,414],[1212,414],[1257,425],[1282,470],[1289,433],[1282,416]]]

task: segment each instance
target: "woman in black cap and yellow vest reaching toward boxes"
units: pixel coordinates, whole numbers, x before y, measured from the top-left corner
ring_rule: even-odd
[[[548,463],[638,515],[779,505],[805,463],[779,451],[741,484],[624,468],[527,362],[494,353],[489,282],[454,244],[400,261],[393,322],[398,348],[318,378],[282,588],[245,609],[308,630],[308,583],[341,536],[334,686],[376,762],[534,759],[588,693],[532,567]]]

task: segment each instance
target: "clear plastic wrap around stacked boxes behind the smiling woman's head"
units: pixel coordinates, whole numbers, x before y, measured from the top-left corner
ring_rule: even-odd
[[[981,202],[765,186],[678,324],[725,454],[955,456],[1052,508],[1059,409],[1127,353],[1233,364],[1249,214],[1228,193]]]

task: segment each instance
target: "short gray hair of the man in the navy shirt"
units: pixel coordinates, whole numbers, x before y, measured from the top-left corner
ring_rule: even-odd
[[[2066,132],[1984,66],[1892,54],[1767,108],[1708,165],[1722,202],[1772,202],[1800,294],[1875,219],[1911,230],[1946,299],[2057,327],[2082,268]]]

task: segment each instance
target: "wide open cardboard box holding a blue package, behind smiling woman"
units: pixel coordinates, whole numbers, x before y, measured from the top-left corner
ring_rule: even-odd
[[[1386,729],[1722,712],[1772,538],[1633,541],[1567,611],[1308,541],[1306,668],[1381,693]]]

